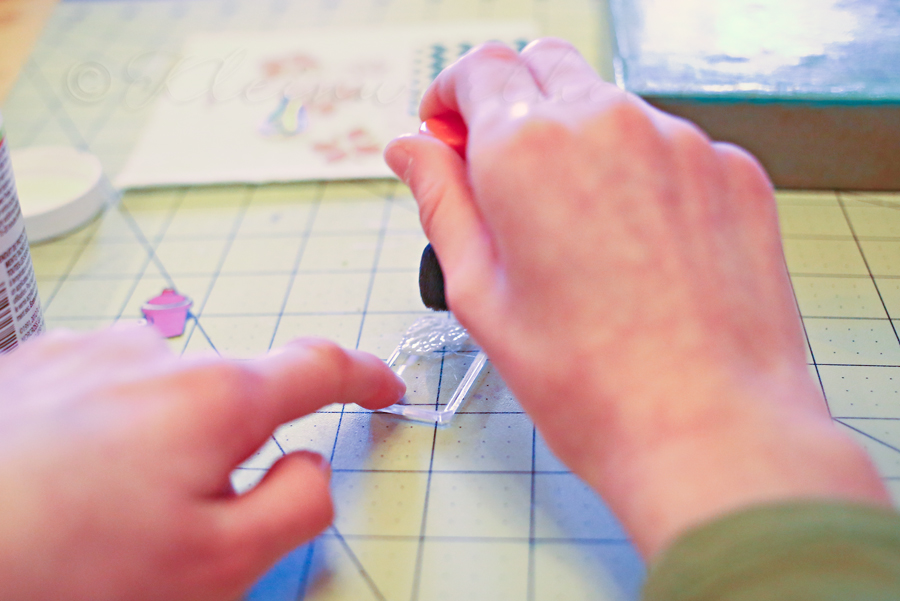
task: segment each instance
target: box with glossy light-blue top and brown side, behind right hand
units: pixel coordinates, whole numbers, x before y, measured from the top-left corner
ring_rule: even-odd
[[[900,189],[897,0],[610,0],[616,78],[787,188]]]

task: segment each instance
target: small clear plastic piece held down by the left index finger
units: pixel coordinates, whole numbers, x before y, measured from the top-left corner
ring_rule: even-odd
[[[487,366],[487,355],[450,313],[426,315],[409,327],[387,360],[406,382],[406,395],[381,411],[447,424]]]

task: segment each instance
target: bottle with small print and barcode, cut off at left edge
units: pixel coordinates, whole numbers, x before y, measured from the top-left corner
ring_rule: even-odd
[[[44,331],[25,220],[0,115],[0,353]]]

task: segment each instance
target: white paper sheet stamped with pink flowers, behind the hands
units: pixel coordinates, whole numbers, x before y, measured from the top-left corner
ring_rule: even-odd
[[[382,150],[416,130],[441,68],[483,41],[534,37],[522,22],[197,34],[156,78],[116,185],[392,177]]]

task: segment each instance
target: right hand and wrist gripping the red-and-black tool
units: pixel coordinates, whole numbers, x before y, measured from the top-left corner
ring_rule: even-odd
[[[809,377],[769,180],[746,152],[603,82],[569,44],[488,44],[442,73],[466,160],[386,159],[419,202],[451,310],[554,452],[651,556],[798,496],[886,502]]]

